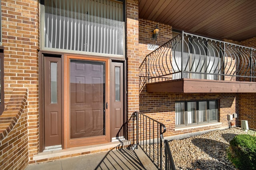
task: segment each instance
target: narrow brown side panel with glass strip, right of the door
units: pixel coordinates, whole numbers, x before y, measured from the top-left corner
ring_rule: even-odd
[[[110,135],[124,136],[124,68],[123,63],[112,62],[110,81]]]

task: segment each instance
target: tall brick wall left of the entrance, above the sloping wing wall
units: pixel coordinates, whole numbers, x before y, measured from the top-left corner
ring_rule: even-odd
[[[1,0],[4,90],[28,88],[29,156],[38,153],[38,0]],[[8,98],[8,94],[6,94]],[[8,100],[5,100],[7,103]],[[5,104],[6,104],[5,103]]]

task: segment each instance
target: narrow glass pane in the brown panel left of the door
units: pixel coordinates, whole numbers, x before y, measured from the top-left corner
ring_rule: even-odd
[[[50,62],[50,79],[51,79],[51,104],[57,104],[57,68],[56,62]]]

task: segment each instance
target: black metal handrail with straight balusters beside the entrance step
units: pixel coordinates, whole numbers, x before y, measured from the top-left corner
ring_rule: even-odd
[[[156,167],[162,170],[164,124],[139,112],[136,116],[136,144],[147,154]]]

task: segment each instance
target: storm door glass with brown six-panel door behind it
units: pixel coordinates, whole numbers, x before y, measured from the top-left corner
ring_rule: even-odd
[[[105,135],[105,62],[70,60],[70,138]]]

